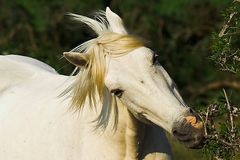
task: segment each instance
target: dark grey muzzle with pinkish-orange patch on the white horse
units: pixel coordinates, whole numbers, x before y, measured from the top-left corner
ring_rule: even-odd
[[[172,134],[188,148],[202,148],[203,146],[203,122],[192,113],[173,124]]]

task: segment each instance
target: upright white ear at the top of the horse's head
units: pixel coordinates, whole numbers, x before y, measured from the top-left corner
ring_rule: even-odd
[[[106,17],[113,32],[127,34],[122,19],[116,13],[112,12],[109,7],[106,8]]]

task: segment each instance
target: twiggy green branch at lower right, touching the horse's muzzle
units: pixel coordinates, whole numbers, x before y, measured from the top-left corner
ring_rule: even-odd
[[[240,151],[240,130],[237,121],[240,111],[238,107],[230,105],[225,89],[223,93],[224,104],[211,104],[206,112],[201,112],[206,137],[204,152],[209,159],[231,159]]]

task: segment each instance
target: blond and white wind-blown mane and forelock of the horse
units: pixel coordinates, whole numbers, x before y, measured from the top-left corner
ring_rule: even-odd
[[[134,36],[113,32],[103,11],[96,14],[96,20],[76,14],[69,15],[74,20],[88,25],[95,31],[97,37],[71,50],[79,52],[79,56],[86,60],[86,64],[77,67],[79,72],[75,76],[75,81],[65,93],[71,93],[71,108],[75,111],[81,110],[87,102],[86,100],[91,107],[100,102],[102,110],[96,120],[96,127],[106,128],[112,109],[114,109],[115,116],[118,116],[116,97],[108,91],[104,84],[108,68],[106,56],[112,58],[122,56],[143,46],[143,43]],[[117,124],[117,119],[115,118],[114,126]]]

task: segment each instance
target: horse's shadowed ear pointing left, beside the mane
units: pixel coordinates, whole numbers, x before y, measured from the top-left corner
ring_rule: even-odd
[[[88,63],[86,56],[79,52],[63,52],[63,56],[77,67],[86,66]]]

